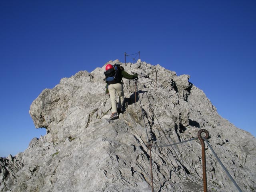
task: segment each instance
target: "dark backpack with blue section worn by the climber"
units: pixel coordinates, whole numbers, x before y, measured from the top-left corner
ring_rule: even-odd
[[[121,83],[122,81],[122,70],[119,64],[114,64],[114,68],[108,69],[104,72],[106,76],[105,80],[108,84]]]

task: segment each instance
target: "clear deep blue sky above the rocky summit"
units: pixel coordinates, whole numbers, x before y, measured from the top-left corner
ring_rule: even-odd
[[[1,0],[0,156],[45,134],[28,113],[42,90],[138,51],[256,136],[255,0]]]

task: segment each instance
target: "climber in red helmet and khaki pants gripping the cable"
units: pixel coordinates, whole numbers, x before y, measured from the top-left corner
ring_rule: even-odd
[[[128,74],[124,71],[124,68],[119,64],[114,66],[111,64],[106,65],[106,71],[104,72],[106,76],[106,94],[110,96],[112,114],[110,116],[111,120],[118,118],[118,114],[123,113],[124,107],[124,87],[122,78],[135,79],[138,80],[138,74],[133,75]],[[118,106],[116,108],[116,93],[119,96]]]

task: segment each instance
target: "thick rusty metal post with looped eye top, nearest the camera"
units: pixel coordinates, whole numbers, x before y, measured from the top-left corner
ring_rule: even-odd
[[[207,176],[206,176],[206,158],[205,158],[205,145],[204,145],[204,139],[202,138],[201,134],[205,133],[206,136],[204,138],[209,138],[209,132],[206,129],[201,129],[198,131],[198,138],[201,142],[202,146],[202,164],[203,164],[203,182],[204,182],[204,192],[207,192]]]

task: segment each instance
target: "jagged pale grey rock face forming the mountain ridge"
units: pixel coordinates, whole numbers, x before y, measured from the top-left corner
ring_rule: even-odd
[[[256,191],[256,139],[218,115],[190,76],[140,60],[120,64],[140,78],[137,86],[123,79],[126,110],[114,121],[104,66],[42,91],[30,115],[47,134],[15,157],[0,158],[0,191],[150,192],[148,144],[154,191],[203,191],[198,140],[156,147],[196,138],[202,128],[242,191]],[[237,191],[207,145],[206,172],[208,191]]]

